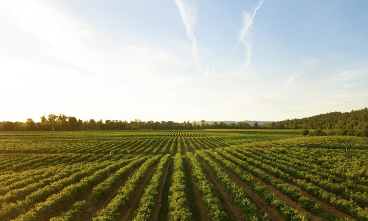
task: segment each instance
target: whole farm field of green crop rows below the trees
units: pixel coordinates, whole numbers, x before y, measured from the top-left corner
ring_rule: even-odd
[[[0,221],[368,221],[368,138],[0,132]]]

